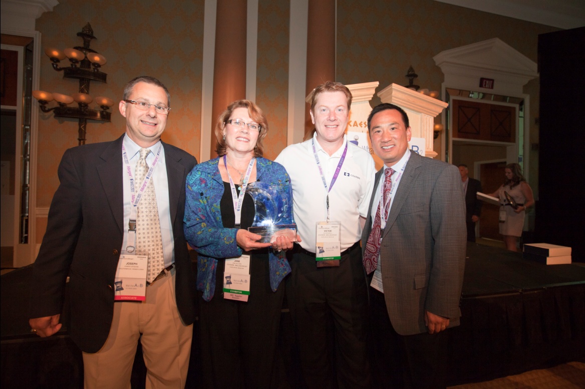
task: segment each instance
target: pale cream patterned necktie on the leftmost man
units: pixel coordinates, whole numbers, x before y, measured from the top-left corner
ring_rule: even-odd
[[[141,185],[148,165],[146,156],[150,150],[140,149],[140,159],[136,163],[136,185]],[[163,239],[160,235],[159,207],[156,205],[156,194],[154,193],[154,182],[152,177],[149,180],[142,199],[138,203],[136,216],[136,251],[140,254],[149,255],[148,269],[146,273],[147,282],[153,282],[156,276],[164,269]]]

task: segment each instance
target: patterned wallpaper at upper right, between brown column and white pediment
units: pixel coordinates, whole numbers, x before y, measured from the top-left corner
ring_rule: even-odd
[[[337,78],[344,84],[379,81],[441,91],[443,73],[433,56],[443,50],[500,38],[536,62],[538,34],[554,27],[432,0],[337,0]],[[371,102],[380,103],[377,96]],[[533,102],[534,103],[534,102]]]

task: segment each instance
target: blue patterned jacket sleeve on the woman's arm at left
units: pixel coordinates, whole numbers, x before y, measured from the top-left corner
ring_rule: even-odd
[[[221,192],[208,174],[195,169],[185,184],[185,239],[199,254],[211,258],[242,255],[236,244],[236,228],[223,228],[219,200]],[[221,188],[223,189],[223,188]]]

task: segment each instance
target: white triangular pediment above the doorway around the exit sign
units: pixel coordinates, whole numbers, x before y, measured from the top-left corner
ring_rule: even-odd
[[[498,38],[442,51],[433,60],[445,85],[471,91],[519,96],[526,82],[538,77],[536,62]],[[494,79],[494,88],[480,88],[480,78]]]

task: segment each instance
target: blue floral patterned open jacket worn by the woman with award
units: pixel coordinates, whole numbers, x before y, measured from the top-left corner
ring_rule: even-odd
[[[198,253],[197,289],[203,292],[205,301],[214,297],[218,259],[242,255],[236,243],[237,228],[224,228],[219,202],[223,196],[223,180],[219,173],[220,158],[198,164],[187,176],[185,199],[185,238]],[[256,179],[280,188],[281,196],[291,206],[283,223],[294,223],[292,217],[292,188],[284,167],[266,158],[256,158]],[[291,268],[284,251],[278,254],[270,248],[270,287],[273,291]]]

